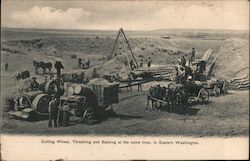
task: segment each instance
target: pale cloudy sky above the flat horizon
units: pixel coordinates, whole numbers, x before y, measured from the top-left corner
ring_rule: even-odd
[[[249,30],[249,1],[2,0],[2,27]]]

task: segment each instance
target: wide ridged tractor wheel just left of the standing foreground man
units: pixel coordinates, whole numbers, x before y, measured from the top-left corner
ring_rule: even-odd
[[[47,115],[50,96],[47,94],[39,94],[35,97],[32,102],[32,108],[36,110],[38,114]]]

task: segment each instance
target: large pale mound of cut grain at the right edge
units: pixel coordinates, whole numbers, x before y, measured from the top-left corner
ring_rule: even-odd
[[[227,39],[219,50],[214,73],[231,81],[232,89],[249,89],[249,41]]]

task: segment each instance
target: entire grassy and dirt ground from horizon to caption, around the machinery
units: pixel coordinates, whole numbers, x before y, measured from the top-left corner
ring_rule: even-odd
[[[126,32],[126,31],[125,31]],[[171,39],[161,38],[167,32]],[[112,116],[95,125],[78,124],[77,118],[69,127],[48,128],[47,120],[27,122],[17,120],[6,111],[5,99],[17,92],[20,84],[15,81],[17,71],[29,70],[34,76],[33,60],[54,62],[61,60],[63,72],[80,71],[77,59],[72,55],[91,59],[91,69],[108,62],[115,41],[116,31],[46,31],[46,30],[1,30],[1,115],[2,132],[10,134],[34,135],[183,135],[183,136],[248,136],[249,135],[249,90],[231,91],[226,96],[211,97],[209,104],[191,106],[186,115],[152,111],[146,109],[146,90],[144,92],[122,91],[119,104],[114,106]],[[203,31],[149,31],[126,32],[135,56],[152,57],[154,64],[172,64],[181,55],[187,55],[192,47],[201,58],[209,48],[215,53],[226,39],[244,39],[244,32],[204,32]],[[202,35],[202,36],[201,36]],[[97,37],[98,36],[98,37]],[[115,50],[129,53],[119,41]],[[9,69],[3,71],[8,62]],[[119,65],[119,64],[118,64]],[[119,66],[115,67],[119,67]],[[114,69],[113,64],[107,66]],[[102,69],[106,71],[106,69]],[[100,73],[102,73],[100,69]],[[53,69],[52,72],[55,72]],[[36,75],[38,82],[42,75]]]

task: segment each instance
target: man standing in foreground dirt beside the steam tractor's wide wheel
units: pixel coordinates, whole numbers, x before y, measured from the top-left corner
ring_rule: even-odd
[[[54,122],[54,127],[57,127],[57,114],[58,114],[57,98],[55,96],[52,96],[52,100],[49,102],[48,127],[52,127],[52,121]]]

